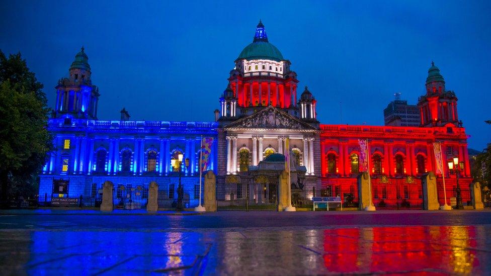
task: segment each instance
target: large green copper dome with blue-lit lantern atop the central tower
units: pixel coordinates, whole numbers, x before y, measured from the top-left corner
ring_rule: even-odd
[[[283,55],[275,45],[268,42],[268,35],[264,29],[264,25],[259,21],[256,28],[253,43],[249,44],[240,52],[237,59],[269,59],[275,61],[283,60]]]

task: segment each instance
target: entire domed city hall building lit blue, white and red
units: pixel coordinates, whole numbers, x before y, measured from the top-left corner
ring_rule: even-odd
[[[421,209],[422,176],[429,172],[441,204],[444,193],[451,206],[457,193],[464,205],[470,201],[467,135],[456,94],[446,89],[434,63],[426,87],[414,95],[417,125],[368,126],[321,124],[316,114],[322,103],[314,97],[321,92],[299,85],[301,77],[269,42],[262,22],[235,59],[225,90],[217,93],[219,105],[210,107],[217,108],[213,122],[132,121],[125,109],[121,118],[98,120],[104,91],[92,83],[88,59],[82,48],[55,87],[48,120],[55,150],[40,176],[40,202],[77,198],[97,207],[103,183],[111,181],[115,208],[139,209],[155,182],[159,208],[176,207],[179,189],[184,207],[193,208],[204,169],[216,176],[218,209],[268,209],[277,204],[285,164],[297,208],[316,196],[340,197],[344,208],[358,207],[363,171],[377,208]],[[203,165],[205,137],[210,144]],[[366,152],[360,141],[366,141]],[[458,174],[449,164],[454,160]]]

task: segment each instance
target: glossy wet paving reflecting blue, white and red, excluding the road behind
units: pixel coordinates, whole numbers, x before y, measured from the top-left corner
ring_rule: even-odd
[[[0,268],[36,275],[486,274],[491,270],[489,237],[489,225],[185,232],[3,230]]]

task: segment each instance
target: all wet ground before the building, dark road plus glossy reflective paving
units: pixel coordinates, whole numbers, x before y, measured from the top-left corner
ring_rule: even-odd
[[[4,275],[491,271],[489,210],[195,216],[2,213]]]

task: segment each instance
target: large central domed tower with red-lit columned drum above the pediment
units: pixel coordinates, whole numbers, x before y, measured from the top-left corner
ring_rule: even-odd
[[[297,102],[297,74],[290,70],[290,61],[271,44],[261,21],[256,28],[253,42],[247,45],[235,60],[230,71],[229,87],[236,99],[233,116],[223,109],[219,121],[233,121],[252,115],[268,106],[282,109],[299,117]],[[222,101],[222,99],[220,100]]]

